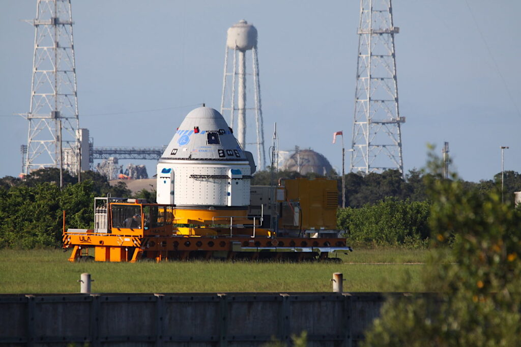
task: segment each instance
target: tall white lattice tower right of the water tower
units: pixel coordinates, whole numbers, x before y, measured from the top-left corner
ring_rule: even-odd
[[[391,0],[361,0],[351,172],[403,173]]]

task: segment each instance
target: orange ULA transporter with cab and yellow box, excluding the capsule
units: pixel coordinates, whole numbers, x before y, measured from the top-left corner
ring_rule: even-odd
[[[94,229],[65,229],[70,262],[225,258],[325,260],[351,251],[336,229],[337,182],[252,186],[250,206],[224,209],[96,197]]]

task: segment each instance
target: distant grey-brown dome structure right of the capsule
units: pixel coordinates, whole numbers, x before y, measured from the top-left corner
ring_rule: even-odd
[[[289,157],[283,165],[283,169],[287,171],[297,171],[301,175],[307,173],[316,173],[317,175],[326,176],[333,167],[325,156],[311,149],[297,149],[291,157]]]

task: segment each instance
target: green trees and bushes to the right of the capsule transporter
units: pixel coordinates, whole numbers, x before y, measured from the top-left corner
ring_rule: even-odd
[[[316,178],[316,174],[300,175],[298,172],[281,171],[279,178]],[[327,176],[336,179],[339,189],[339,205],[342,201],[342,178],[331,172]],[[269,171],[256,173],[252,184],[269,184]],[[453,177],[461,189],[477,196],[487,196],[500,191],[501,173],[491,180],[464,181]],[[346,208],[339,208],[337,226],[345,230],[351,245],[405,245],[424,247],[429,244],[429,216],[432,196],[428,194],[429,182],[445,181],[441,173],[424,173],[410,170],[402,176],[398,170],[382,173],[348,173],[345,175]],[[521,191],[521,175],[515,171],[504,172],[504,200],[511,205],[514,192]]]

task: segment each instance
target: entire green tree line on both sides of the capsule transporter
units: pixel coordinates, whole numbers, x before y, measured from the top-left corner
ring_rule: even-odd
[[[264,185],[280,178],[316,178],[302,176],[294,171],[277,172],[273,179],[269,171],[259,171],[252,184]],[[331,172],[328,178],[336,179],[341,188],[341,178]],[[423,246],[429,238],[430,199],[426,180],[442,180],[441,176],[409,171],[403,177],[397,170],[381,174],[362,175],[349,173],[346,180],[345,209],[338,212],[338,228],[345,230],[352,244],[382,244]],[[497,191],[501,185],[501,173],[493,180],[479,183],[456,179],[465,191],[485,196]],[[64,189],[59,189],[59,170],[36,170],[25,179],[4,177],[0,179],[0,247],[32,248],[59,246],[61,243],[62,211],[66,210],[67,227],[91,228],[93,223],[92,201],[94,196],[130,197],[124,182],[112,186],[99,173],[82,173],[78,178],[64,173]],[[510,203],[513,192],[521,190],[521,175],[505,171],[505,201]],[[339,204],[341,203],[339,194]],[[155,192],[143,190],[133,197],[155,202]]]

